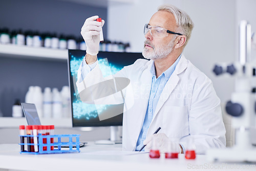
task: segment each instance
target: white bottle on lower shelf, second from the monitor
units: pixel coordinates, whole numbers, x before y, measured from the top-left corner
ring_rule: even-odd
[[[62,99],[56,88],[53,89],[52,116],[53,118],[62,118]]]

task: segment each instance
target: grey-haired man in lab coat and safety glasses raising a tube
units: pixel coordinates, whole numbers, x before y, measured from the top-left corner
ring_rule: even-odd
[[[97,63],[104,21],[96,22],[96,18],[88,18],[81,29],[87,54],[78,70],[79,92],[85,85],[104,80]],[[193,26],[184,11],[172,5],[160,6],[144,27],[142,55],[150,60],[138,59],[117,73],[130,80],[122,94],[123,150],[139,151],[147,144],[148,151],[153,137],[159,138],[160,149],[168,139],[178,139],[180,153],[189,148],[191,138],[197,154],[225,147],[220,99],[211,80],[182,54]],[[161,130],[154,134],[158,127]]]

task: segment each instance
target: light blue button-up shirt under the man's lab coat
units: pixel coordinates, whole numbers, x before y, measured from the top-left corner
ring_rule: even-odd
[[[145,119],[144,119],[142,129],[140,131],[140,135],[137,141],[136,151],[139,151],[140,148],[143,146],[143,141],[146,139],[147,130],[148,130],[148,127],[150,127],[150,124],[152,122],[154,112],[156,110],[157,102],[160,98],[160,95],[163,91],[163,88],[166,82],[169,80],[178,62],[180,61],[180,58],[181,58],[181,55],[177,58],[177,60],[173,63],[173,65],[170,66],[170,68],[168,68],[166,71],[164,71],[158,78],[156,78],[155,64],[153,63],[152,65],[152,68],[150,71],[152,74],[150,99],[148,100]],[[142,151],[144,151],[144,149]]]

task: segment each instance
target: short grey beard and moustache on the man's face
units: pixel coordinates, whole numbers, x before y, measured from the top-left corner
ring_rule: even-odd
[[[145,40],[142,55],[144,58],[152,59],[152,60],[165,58],[173,51],[174,41],[175,39],[172,39],[172,41],[170,41],[169,44],[165,45],[164,47],[155,48],[154,46],[151,45],[149,40]],[[149,49],[145,48],[146,43],[152,46],[153,48],[152,52],[150,52]]]

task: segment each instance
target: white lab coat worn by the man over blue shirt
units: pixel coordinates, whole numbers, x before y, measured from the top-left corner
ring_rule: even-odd
[[[153,62],[138,59],[133,65],[124,67],[116,74],[131,81],[124,91],[122,147],[125,151],[135,151],[136,148],[150,96],[150,70]],[[79,69],[78,80],[80,75]],[[96,66],[84,82],[76,83],[78,92],[84,89],[84,84],[92,85],[103,79],[99,67]],[[147,136],[152,135],[158,127],[161,127],[159,133],[164,133],[169,138],[179,138],[185,149],[188,148],[188,140],[192,136],[197,154],[204,154],[208,148],[225,147],[226,131],[220,99],[211,80],[184,55],[162,91]]]

